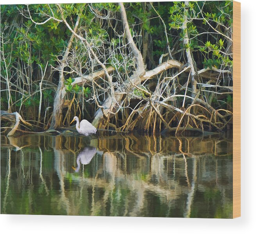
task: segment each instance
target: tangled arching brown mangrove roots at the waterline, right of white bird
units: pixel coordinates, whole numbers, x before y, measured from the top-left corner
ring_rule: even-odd
[[[186,67],[183,71],[189,71],[189,68]],[[170,76],[170,71],[163,71],[154,78],[155,86],[151,81],[126,87],[126,93],[111,113],[102,111],[100,127],[121,131],[137,129],[153,134],[164,130],[175,132],[175,134],[181,134],[184,130],[202,133],[204,131],[221,132],[225,128],[231,128],[233,113],[224,108],[214,108],[209,104],[211,103],[209,99],[203,100],[204,94],[208,91],[217,96],[230,87],[218,87],[217,92],[201,88],[197,90],[195,97],[192,97],[188,94],[192,93],[188,87],[190,73],[187,83],[184,76],[183,78],[181,76],[179,82],[184,80],[184,85],[180,85],[180,88],[175,86],[178,75],[182,72],[177,71]]]

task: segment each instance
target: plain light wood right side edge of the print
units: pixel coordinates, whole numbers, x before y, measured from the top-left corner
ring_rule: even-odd
[[[241,216],[241,4],[233,1],[233,218]]]

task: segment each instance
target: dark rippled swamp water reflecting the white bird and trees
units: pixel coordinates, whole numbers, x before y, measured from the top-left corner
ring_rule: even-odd
[[[1,213],[232,218],[232,142],[1,136]]]

